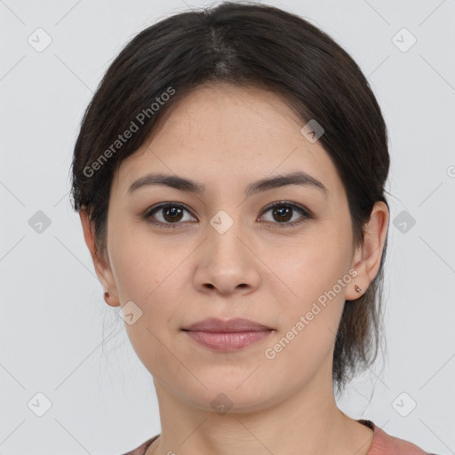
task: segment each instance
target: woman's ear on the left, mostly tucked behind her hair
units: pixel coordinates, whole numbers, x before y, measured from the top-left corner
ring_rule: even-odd
[[[85,209],[81,209],[79,211],[79,217],[81,218],[82,228],[84,230],[85,243],[92,255],[96,275],[105,291],[108,292],[108,298],[105,295],[106,303],[111,307],[118,307],[120,306],[120,302],[116,291],[116,281],[114,280],[108,260],[108,253],[106,252],[105,258],[101,258],[99,252],[96,251],[95,225],[90,219],[88,212]]]

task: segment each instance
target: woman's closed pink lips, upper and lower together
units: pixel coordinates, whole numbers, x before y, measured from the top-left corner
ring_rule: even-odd
[[[208,318],[182,330],[197,343],[217,351],[234,351],[247,347],[266,338],[273,331],[266,325],[238,317],[227,321]]]

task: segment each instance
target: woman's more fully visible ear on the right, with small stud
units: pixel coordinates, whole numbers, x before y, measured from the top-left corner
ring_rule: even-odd
[[[347,289],[347,300],[355,300],[361,297],[378,274],[384,243],[387,238],[388,220],[387,204],[382,201],[374,204],[371,218],[363,229],[363,244],[355,250],[351,264],[351,267],[357,271],[357,275]],[[362,291],[355,291],[355,286],[358,286]]]

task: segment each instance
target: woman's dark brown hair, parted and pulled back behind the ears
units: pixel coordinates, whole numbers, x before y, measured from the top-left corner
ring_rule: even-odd
[[[302,126],[311,119],[323,126],[319,141],[346,188],[354,244],[362,243],[373,204],[387,204],[389,168],[387,128],[368,81],[349,54],[307,20],[264,4],[224,3],[141,31],[112,62],[84,113],[71,196],[74,209],[91,217],[100,256],[118,166],[164,124],[178,100],[197,85],[217,82],[279,93]],[[127,130],[132,134],[120,141]],[[368,290],[345,302],[333,357],[338,391],[377,356],[386,249],[387,240]]]

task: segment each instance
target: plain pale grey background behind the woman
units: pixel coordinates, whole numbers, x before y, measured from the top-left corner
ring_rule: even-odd
[[[203,4],[212,2],[191,6]],[[455,1],[270,4],[351,54],[390,134],[388,351],[339,406],[455,453]],[[0,454],[112,455],[160,432],[151,377],[102,298],[69,205],[68,171],[108,64],[140,30],[186,9],[180,0],[0,1]]]

